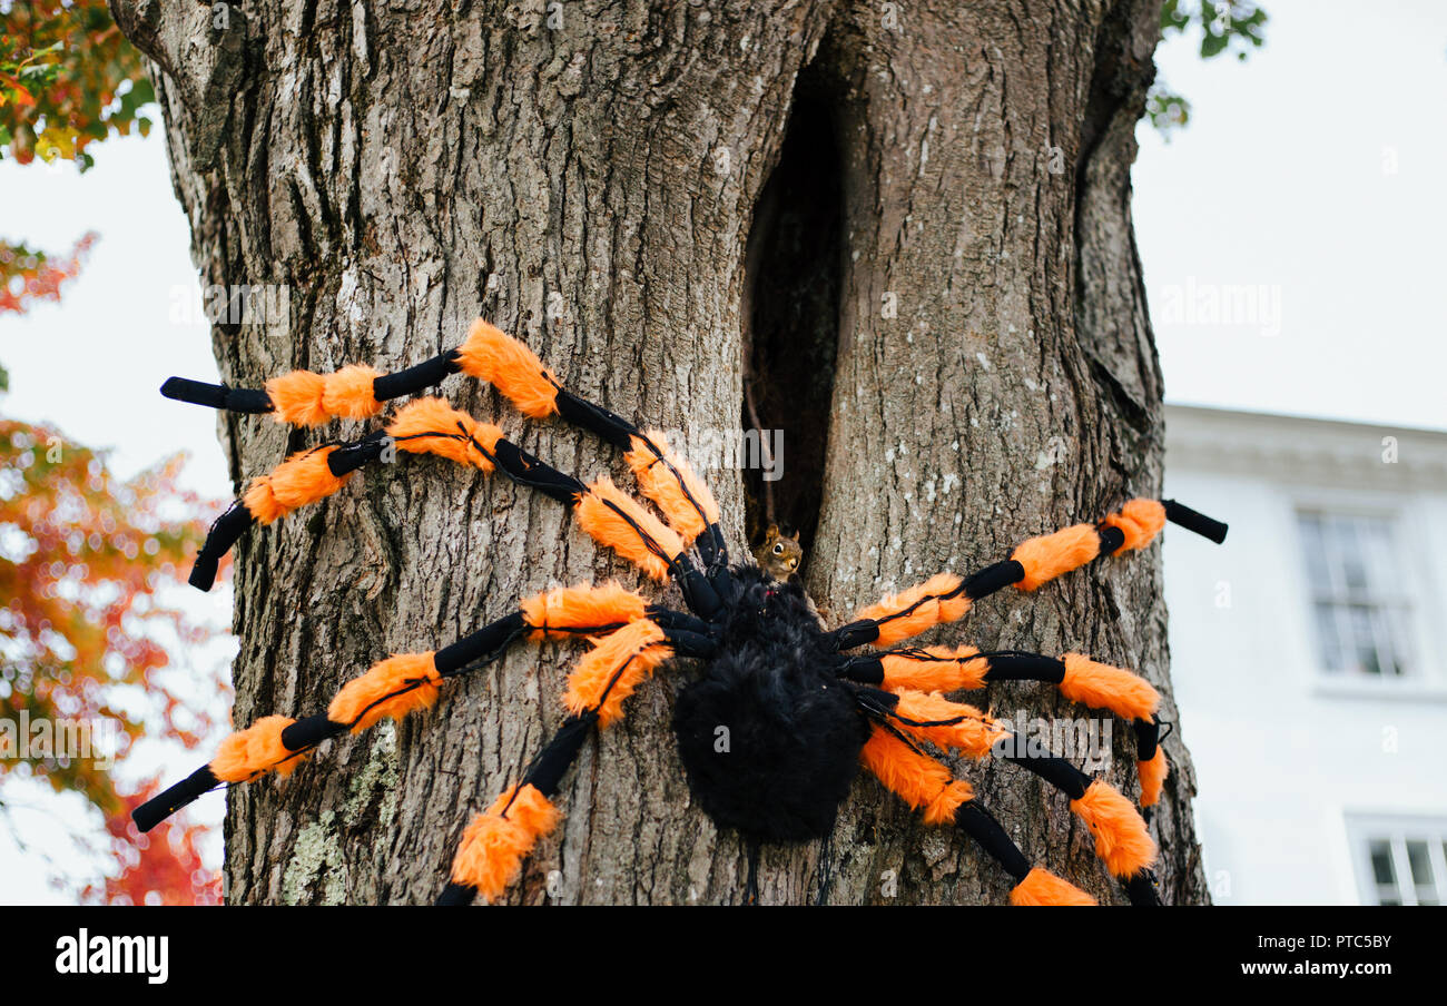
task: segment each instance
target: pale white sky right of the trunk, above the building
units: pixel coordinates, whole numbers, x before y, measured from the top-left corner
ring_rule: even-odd
[[[1447,428],[1447,3],[1262,6],[1244,64],[1159,49],[1192,116],[1137,129],[1166,401]]]

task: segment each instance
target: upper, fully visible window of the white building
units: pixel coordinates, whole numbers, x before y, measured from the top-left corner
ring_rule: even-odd
[[[1406,595],[1396,525],[1385,517],[1298,515],[1321,664],[1331,675],[1409,673]]]

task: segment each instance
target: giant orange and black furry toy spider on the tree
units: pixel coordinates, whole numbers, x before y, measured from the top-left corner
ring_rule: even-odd
[[[292,455],[271,475],[253,479],[213,525],[191,583],[210,589],[218,560],[252,523],[271,524],[315,502],[363,465],[401,450],[440,455],[483,472],[499,469],[573,507],[579,525],[601,544],[653,579],[676,582],[689,612],[650,604],[616,582],[538,593],[441,650],[382,660],[343,686],[326,712],[301,719],[263,717],[232,734],[210,764],[136,809],[142,831],[218,785],[272,772],[289,774],[327,738],[430,706],[449,679],[499,659],[518,640],[586,637],[592,648],[569,676],[567,717],[522,777],[466,828],[440,903],[467,903],[479,895],[495,899],[506,890],[538,837],[557,824],[553,798],[583,738],[593,727],[616,722],[624,701],[671,657],[702,661],[702,675],[680,689],[673,715],[689,787],[719,827],[745,838],[751,876],[760,842],[799,842],[831,832],[862,761],[887,789],[922,809],[926,824],[954,822],[996,858],[1016,882],[1011,903],[1092,903],[1068,882],[1032,867],[974,799],[969,783],[954,779],[926,753],[933,745],[974,758],[996,753],[1052,783],[1090,827],[1097,854],[1129,899],[1156,903],[1150,871],[1156,845],[1130,800],[1064,758],[1010,748],[1003,744],[1010,740],[1007,724],[945,698],[991,682],[1049,682],[1075,702],[1126,718],[1137,741],[1140,805],[1149,808],[1166,776],[1155,688],[1075,653],[1051,657],[900,644],[961,618],[975,601],[1006,586],[1033,591],[1094,559],[1142,549],[1168,520],[1215,541],[1224,538],[1224,524],[1174,501],[1132,499],[1100,524],[1030,538],[1010,559],[968,578],[939,573],[826,630],[797,578],[778,582],[751,563],[729,565],[713,495],[661,434],[641,431],[566,391],[527,346],[486,321],[473,324],[462,347],[394,375],[359,365],[326,376],[297,371],[269,381],[265,391],[171,378],[162,392],[320,426],[333,417],[375,415],[385,400],[418,392],[457,371],[491,382],[532,418],[561,415],[627,452],[642,494],[661,517],[606,476],[585,485],[521,450],[498,427],[438,398],[420,398],[399,408],[385,430]],[[861,651],[865,646],[875,648]]]

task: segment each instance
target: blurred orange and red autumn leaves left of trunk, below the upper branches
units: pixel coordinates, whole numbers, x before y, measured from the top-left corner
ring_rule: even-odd
[[[197,514],[214,510],[177,486],[181,463],[177,456],[123,481],[104,455],[0,418],[0,719],[110,724],[116,758],[152,730],[187,747],[210,730],[158,673],[168,641],[195,646],[208,635],[164,598],[204,536]],[[129,811],[153,780],[129,789],[106,758],[61,757],[58,745],[29,754],[0,760],[0,792],[14,773],[80,793],[107,819],[120,868],[90,896],[211,897],[205,884],[195,890],[197,829],[177,825],[124,842],[129,851],[119,841],[140,838],[126,831]]]

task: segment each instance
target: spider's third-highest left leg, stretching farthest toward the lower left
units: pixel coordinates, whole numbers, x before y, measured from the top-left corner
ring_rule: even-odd
[[[347,682],[324,714],[301,719],[263,717],[233,732],[211,761],[137,806],[132,818],[140,831],[150,831],[221,783],[252,782],[272,772],[288,776],[314,747],[333,737],[347,731],[359,734],[383,717],[402,719],[414,709],[433,705],[444,682],[493,663],[519,638],[534,643],[579,638],[644,620],[671,633],[680,651],[708,646],[705,622],[650,605],[618,583],[554,588],[527,598],[512,614],[441,650],[396,654],[373,664]]]

